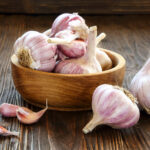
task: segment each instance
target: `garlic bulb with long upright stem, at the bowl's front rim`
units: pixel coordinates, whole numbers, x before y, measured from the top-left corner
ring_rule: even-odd
[[[61,61],[55,68],[55,72],[64,74],[85,74],[101,72],[101,66],[96,59],[96,35],[97,27],[89,29],[87,52],[76,59]]]

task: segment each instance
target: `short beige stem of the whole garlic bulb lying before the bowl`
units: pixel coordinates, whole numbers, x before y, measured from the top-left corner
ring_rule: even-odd
[[[99,117],[94,115],[90,122],[82,129],[82,131],[87,134],[91,132],[97,125],[100,125]]]

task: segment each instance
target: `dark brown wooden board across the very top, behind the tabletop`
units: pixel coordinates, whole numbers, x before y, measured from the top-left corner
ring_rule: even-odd
[[[2,13],[150,14],[150,0],[0,0]]]

